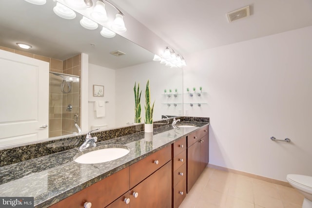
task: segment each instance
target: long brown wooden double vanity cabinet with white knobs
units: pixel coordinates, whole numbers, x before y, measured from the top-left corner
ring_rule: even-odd
[[[209,162],[208,125],[51,208],[178,208]]]

